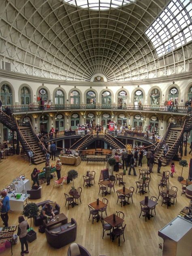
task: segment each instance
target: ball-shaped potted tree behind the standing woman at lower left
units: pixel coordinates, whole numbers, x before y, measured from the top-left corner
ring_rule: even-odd
[[[23,208],[23,215],[25,217],[27,217],[28,219],[31,220],[32,222],[32,218],[34,218],[35,216],[38,215],[38,207],[35,203],[28,203],[27,205],[24,206]],[[30,230],[27,234],[27,240],[31,243],[32,241],[34,241],[37,236],[36,236],[36,232],[34,230],[32,230],[31,228],[31,222],[30,222]]]

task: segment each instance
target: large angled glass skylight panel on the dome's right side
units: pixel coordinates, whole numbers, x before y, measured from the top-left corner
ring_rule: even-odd
[[[158,57],[192,40],[192,4],[190,0],[171,0],[145,34]]]

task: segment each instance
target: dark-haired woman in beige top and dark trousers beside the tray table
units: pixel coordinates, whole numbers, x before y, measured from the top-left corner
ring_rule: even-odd
[[[21,215],[19,216],[19,225],[17,235],[19,236],[19,240],[21,243],[21,256],[24,256],[24,253],[29,253],[28,251],[28,242],[27,242],[27,230],[29,227],[27,220]],[[26,250],[24,251],[24,245],[26,246]]]

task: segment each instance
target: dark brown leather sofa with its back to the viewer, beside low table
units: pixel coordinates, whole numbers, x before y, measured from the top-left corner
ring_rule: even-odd
[[[73,227],[68,226],[75,224]],[[52,233],[54,232],[54,234]],[[56,233],[55,233],[56,232]],[[49,230],[45,228],[47,242],[54,248],[61,248],[68,243],[75,241],[77,237],[77,222],[71,218],[71,222],[62,224],[61,226],[51,227]]]

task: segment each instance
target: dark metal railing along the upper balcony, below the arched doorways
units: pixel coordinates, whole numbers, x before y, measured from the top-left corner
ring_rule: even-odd
[[[70,111],[70,110],[124,110],[124,111],[148,111],[148,112],[166,112],[166,113],[179,113],[187,114],[192,110],[192,107],[185,106],[153,106],[143,105],[115,105],[115,104],[57,104],[57,105],[20,105],[10,106],[12,113],[30,113],[39,111]]]

